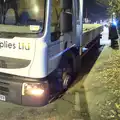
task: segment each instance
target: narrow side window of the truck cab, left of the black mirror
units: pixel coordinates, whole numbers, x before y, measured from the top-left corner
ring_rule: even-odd
[[[60,13],[60,0],[52,0],[51,41],[56,41],[60,37]]]

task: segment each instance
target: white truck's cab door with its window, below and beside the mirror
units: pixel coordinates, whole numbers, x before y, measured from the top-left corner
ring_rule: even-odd
[[[62,53],[74,44],[72,41],[73,30],[64,34],[60,30],[60,16],[63,11],[60,6],[60,2],[61,0],[52,0],[50,30],[51,41],[48,45],[48,73],[57,67]]]

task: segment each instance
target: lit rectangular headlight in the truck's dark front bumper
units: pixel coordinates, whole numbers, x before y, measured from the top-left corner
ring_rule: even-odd
[[[40,83],[23,83],[22,95],[41,96],[45,92],[45,88]]]

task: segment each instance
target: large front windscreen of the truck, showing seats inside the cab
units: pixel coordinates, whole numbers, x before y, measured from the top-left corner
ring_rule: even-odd
[[[0,32],[41,32],[45,0],[0,0]]]

